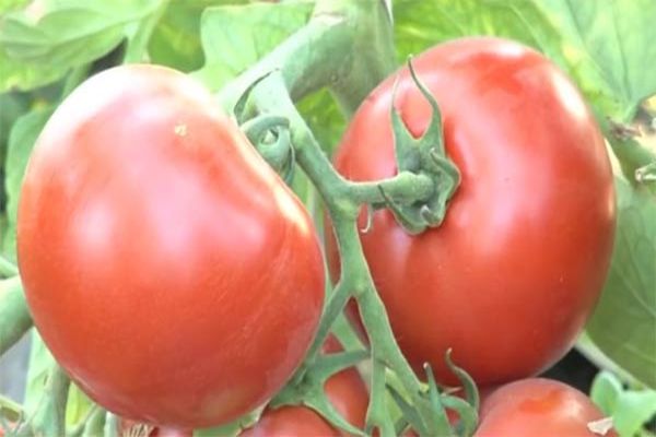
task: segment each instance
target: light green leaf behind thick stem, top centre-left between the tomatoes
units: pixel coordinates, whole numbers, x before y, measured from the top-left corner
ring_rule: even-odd
[[[312,9],[307,1],[207,9],[200,23],[206,63],[192,74],[219,90],[305,24]]]

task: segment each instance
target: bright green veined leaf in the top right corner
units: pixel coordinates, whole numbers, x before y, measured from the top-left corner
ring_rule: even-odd
[[[656,2],[536,1],[562,35],[570,72],[606,115],[622,121],[656,93]],[[600,95],[596,95],[599,92]]]

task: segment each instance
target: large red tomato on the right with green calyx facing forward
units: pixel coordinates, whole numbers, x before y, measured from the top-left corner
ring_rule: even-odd
[[[448,347],[481,385],[538,374],[572,346],[607,275],[616,202],[604,138],[569,79],[514,42],[453,40],[413,66],[441,106],[461,184],[438,228],[411,236],[382,210],[361,236],[393,330],[415,370],[429,362],[445,383],[457,382]],[[397,173],[396,78],[363,102],[337,151],[351,180]],[[407,69],[395,105],[421,135],[431,109]],[[337,277],[333,238],[327,247]]]

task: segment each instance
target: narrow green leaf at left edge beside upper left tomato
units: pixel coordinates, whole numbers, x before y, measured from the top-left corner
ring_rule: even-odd
[[[4,164],[4,190],[9,200],[7,204],[9,231],[3,234],[2,251],[12,260],[15,260],[16,212],[23,174],[32,147],[46,125],[46,121],[50,118],[52,110],[51,107],[42,108],[22,116],[13,125],[9,135],[9,147]]]

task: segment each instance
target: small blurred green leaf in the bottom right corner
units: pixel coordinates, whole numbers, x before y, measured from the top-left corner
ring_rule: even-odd
[[[609,371],[601,371],[593,381],[590,399],[605,414],[612,416],[621,437],[635,436],[649,421],[656,418],[656,391],[625,390]]]

